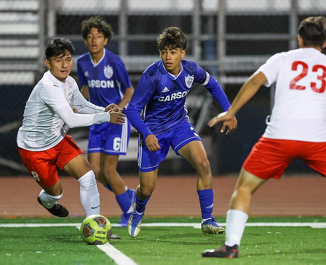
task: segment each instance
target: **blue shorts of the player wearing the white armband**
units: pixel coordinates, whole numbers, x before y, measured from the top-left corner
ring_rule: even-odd
[[[150,152],[146,146],[144,139],[138,140],[138,167],[141,172],[150,172],[159,168],[159,164],[166,158],[170,146],[178,155],[181,147],[191,141],[201,141],[195,128],[190,123],[182,123],[181,126],[155,135],[159,141],[161,149]]]

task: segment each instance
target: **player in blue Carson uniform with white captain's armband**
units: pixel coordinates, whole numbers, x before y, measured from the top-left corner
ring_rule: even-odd
[[[230,103],[218,82],[192,61],[182,60],[186,36],[177,27],[166,28],[157,39],[162,60],[150,65],[142,74],[127,106],[126,115],[139,132],[138,166],[140,185],[128,222],[128,233],[136,237],[141,229],[145,206],[154,191],[159,164],[170,146],[177,155],[187,159],[196,169],[197,192],[201,209],[201,230],[221,234],[224,228],[212,217],[212,173],[199,135],[190,124],[185,106],[186,95],[194,82],[206,87],[223,110]],[[141,112],[141,114],[140,114]],[[236,129],[235,117],[224,123],[221,132]]]

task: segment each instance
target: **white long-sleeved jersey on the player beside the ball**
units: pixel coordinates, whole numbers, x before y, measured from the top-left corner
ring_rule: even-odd
[[[64,121],[56,111],[68,107],[69,112],[72,112],[73,106],[89,115],[72,115],[72,124],[88,126],[109,121],[109,113],[104,112],[105,108],[85,100],[71,76],[62,83],[51,71],[45,72],[26,103],[23,123],[17,135],[18,146],[30,151],[44,151],[54,147],[66,135]]]

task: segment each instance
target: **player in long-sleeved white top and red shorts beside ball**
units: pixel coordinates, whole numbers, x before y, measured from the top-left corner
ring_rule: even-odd
[[[93,105],[85,100],[72,70],[72,42],[56,37],[46,47],[45,65],[49,71],[34,87],[18,130],[19,155],[37,184],[42,187],[37,201],[50,213],[66,217],[68,210],[57,203],[63,195],[56,166],[76,178],[80,184],[80,200],[86,216],[100,213],[100,197],[94,173],[83,151],[67,135],[69,127],[113,123],[123,125],[125,114],[118,106]],[[80,114],[72,111],[75,107]]]

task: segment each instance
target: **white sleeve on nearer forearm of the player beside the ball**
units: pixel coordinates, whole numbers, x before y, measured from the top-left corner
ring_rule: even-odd
[[[85,127],[92,124],[101,124],[110,121],[109,112],[101,112],[97,114],[78,114],[72,111],[70,106],[58,108],[55,114],[64,121],[70,128]]]

